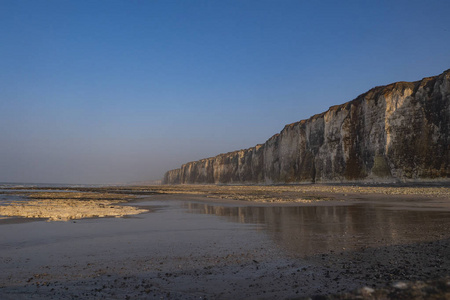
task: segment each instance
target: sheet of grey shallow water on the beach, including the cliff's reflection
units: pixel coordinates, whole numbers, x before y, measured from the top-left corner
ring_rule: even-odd
[[[436,263],[439,245],[390,246],[448,238],[449,212],[396,210],[386,204],[259,207],[143,200],[131,205],[150,212],[0,225],[0,298],[3,293],[26,299],[37,292],[39,299],[83,298],[84,292],[93,299],[118,298],[117,293],[121,299],[133,293],[147,297],[147,285],[155,299],[171,299],[167,291],[173,299],[292,298],[297,292],[367,285],[364,272],[369,267],[369,275],[374,266],[386,268],[382,275],[391,274],[409,270],[415,261],[410,273],[416,276],[417,270],[439,266],[448,257],[444,251]],[[352,251],[362,247],[373,251]],[[323,265],[317,264],[326,253]],[[381,257],[372,259],[377,253]],[[353,255],[366,255],[360,258],[365,265],[353,264]],[[389,269],[401,261],[406,267]],[[37,284],[42,281],[47,285]],[[106,285],[107,290],[98,292]]]

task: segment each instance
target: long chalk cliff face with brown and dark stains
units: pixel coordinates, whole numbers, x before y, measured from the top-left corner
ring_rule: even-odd
[[[262,145],[189,162],[163,183],[296,183],[450,177],[450,70],[376,87],[289,124]]]

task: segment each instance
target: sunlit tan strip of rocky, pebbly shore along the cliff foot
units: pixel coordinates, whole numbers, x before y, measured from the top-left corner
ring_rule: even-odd
[[[116,208],[128,209],[128,204],[154,200],[180,200],[214,203],[215,205],[233,206],[348,206],[357,204],[385,204],[391,209],[450,211],[450,187],[447,185],[408,186],[398,185],[351,185],[351,184],[302,184],[302,185],[158,185],[158,186],[102,186],[102,187],[20,187],[6,188],[1,194],[23,195],[35,194],[53,195],[83,193],[85,195],[99,195],[111,198],[106,204],[115,204]],[[67,196],[65,196],[67,197]],[[78,195],[78,197],[80,197]],[[77,206],[77,201],[70,204]],[[70,206],[69,205],[69,206]],[[118,206],[117,206],[118,205]],[[98,204],[95,204],[98,208]],[[102,206],[105,206],[104,204]],[[125,209],[125,210],[126,210]],[[110,216],[102,211],[83,214],[76,217],[76,213],[67,212],[66,219],[121,217],[144,213],[144,211],[124,211],[124,214],[113,209]],[[38,216],[39,217],[39,216]],[[0,216],[0,225],[6,223],[21,223],[34,220],[64,219],[51,214],[41,218],[27,218],[26,216]]]

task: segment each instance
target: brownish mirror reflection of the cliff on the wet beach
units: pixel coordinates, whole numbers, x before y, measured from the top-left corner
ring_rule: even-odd
[[[264,224],[273,239],[297,255],[354,250],[443,238],[450,213],[390,210],[377,205],[233,207],[186,203],[189,212]]]

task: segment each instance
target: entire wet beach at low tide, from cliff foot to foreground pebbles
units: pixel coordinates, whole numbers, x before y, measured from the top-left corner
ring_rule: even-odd
[[[97,208],[134,212],[120,218],[98,212],[65,219],[3,215],[2,299],[450,296],[446,186],[180,185],[0,193],[3,207],[70,199],[69,209],[97,202]]]

